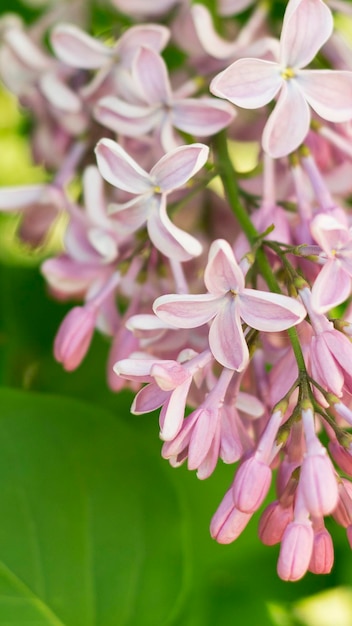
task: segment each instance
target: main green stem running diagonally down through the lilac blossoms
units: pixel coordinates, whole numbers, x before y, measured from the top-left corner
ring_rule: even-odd
[[[225,131],[221,131],[221,133],[218,133],[218,135],[216,135],[216,137],[214,138],[214,148],[217,155],[217,166],[219,170],[219,175],[222,180],[227,200],[237,218],[239,225],[246,235],[249,244],[252,247],[256,247],[256,244],[258,243],[258,239],[260,237],[260,233],[258,233],[246,209],[240,201],[236,174],[231,163]],[[275,275],[270,267],[268,258],[261,247],[256,250],[256,261],[260,267],[261,274],[269,289],[274,293],[282,293],[279,284],[275,278]],[[298,370],[301,374],[307,377],[307,370],[297,331],[295,328],[289,328],[287,332],[297,361]]]

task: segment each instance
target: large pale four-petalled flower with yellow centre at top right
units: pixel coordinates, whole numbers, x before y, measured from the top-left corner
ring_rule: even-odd
[[[290,0],[286,7],[278,62],[240,59],[216,76],[210,90],[243,108],[256,109],[278,95],[262,137],[266,152],[277,158],[307,136],[310,105],[323,119],[352,118],[352,73],[304,70],[330,37],[332,15],[321,0]]]

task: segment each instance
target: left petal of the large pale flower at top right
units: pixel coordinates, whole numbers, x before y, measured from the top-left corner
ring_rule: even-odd
[[[257,109],[276,96],[282,83],[277,63],[239,59],[213,78],[210,91],[245,109]]]

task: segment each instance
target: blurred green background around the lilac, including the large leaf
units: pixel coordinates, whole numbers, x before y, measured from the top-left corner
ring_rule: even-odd
[[[3,0],[0,15],[9,9],[36,15]],[[41,180],[26,118],[4,90],[0,111],[0,185]],[[54,361],[70,305],[48,295],[48,250],[20,244],[17,224],[0,215],[0,625],[350,626],[342,529],[328,520],[332,574],[294,584],[278,579],[258,515],[217,545],[209,523],[234,468],[203,482],[170,468],[157,415],[130,415],[132,395],[107,389],[101,336],[77,371]]]

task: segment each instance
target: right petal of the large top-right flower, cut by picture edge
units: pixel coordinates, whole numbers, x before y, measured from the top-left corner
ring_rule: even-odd
[[[308,104],[324,120],[352,119],[352,72],[301,70],[296,80]]]

